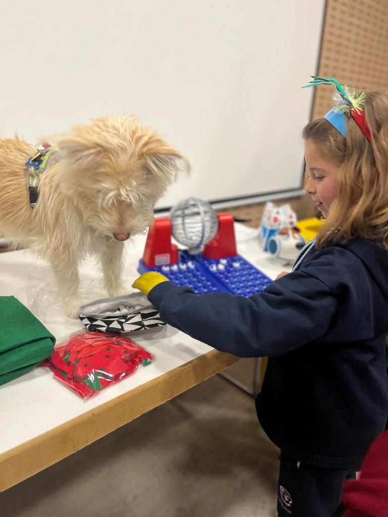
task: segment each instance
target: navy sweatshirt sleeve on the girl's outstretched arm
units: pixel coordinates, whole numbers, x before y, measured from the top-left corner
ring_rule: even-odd
[[[163,321],[221,352],[277,356],[324,336],[333,327],[339,305],[357,296],[349,291],[349,275],[359,274],[354,261],[349,262],[352,254],[336,253],[318,254],[314,265],[289,273],[249,298],[197,295],[171,282],[155,286],[148,298]]]

